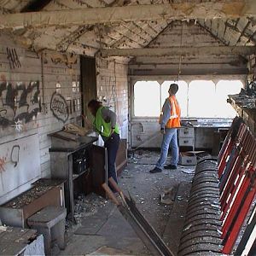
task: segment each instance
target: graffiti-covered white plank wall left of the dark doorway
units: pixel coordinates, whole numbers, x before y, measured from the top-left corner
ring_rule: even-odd
[[[15,141],[15,144],[20,145],[21,148],[25,145],[22,138],[36,135],[39,148],[35,147],[34,150],[39,150],[39,177],[49,177],[50,139],[47,134],[60,130],[68,122],[79,121],[80,107],[77,105],[76,109],[73,109],[73,101],[78,102],[79,100],[81,102],[81,96],[78,91],[73,92],[72,88],[73,82],[79,81],[79,58],[77,58],[76,63],[67,65],[62,61],[70,63],[74,62],[74,58],[67,60],[67,56],[63,57],[50,52],[44,52],[43,56],[42,67],[41,54],[24,49],[14,44],[9,38],[0,37],[0,145],[3,143],[8,145],[9,142]],[[12,62],[15,62],[15,67]],[[44,80],[44,90],[42,79]],[[32,91],[27,90],[29,84],[33,83],[38,83],[38,89],[35,86]],[[20,86],[20,84],[24,85]],[[56,84],[61,84],[60,93],[68,105],[69,114],[65,123],[61,119],[57,119],[50,110],[50,101],[56,91]],[[20,90],[18,90],[19,86]],[[24,86],[23,89],[22,86]],[[22,93],[23,96],[26,95],[24,104],[20,104]],[[41,104],[37,101],[34,102],[35,99],[40,100]],[[39,105],[41,105],[40,110],[38,110]],[[33,111],[36,113],[32,116]],[[20,113],[21,115],[18,116]],[[17,117],[19,117],[21,124],[20,131],[18,131],[18,126],[15,126]],[[63,115],[60,117],[63,118]],[[6,168],[11,161],[9,157],[5,159],[5,156],[9,155],[5,152],[8,148],[6,146],[0,150],[0,174],[1,172],[8,172]],[[30,170],[32,167],[30,161],[28,157],[20,158],[18,165],[26,165],[26,170],[24,169],[19,174],[21,177],[26,176],[26,172],[33,172]],[[12,181],[10,179],[3,182]],[[31,182],[32,177],[29,177],[27,183],[23,183],[23,187],[17,190],[17,193],[27,189]],[[2,191],[2,194],[5,192]],[[13,192],[12,196],[15,195]],[[8,196],[5,195],[1,201],[3,202],[7,198]]]

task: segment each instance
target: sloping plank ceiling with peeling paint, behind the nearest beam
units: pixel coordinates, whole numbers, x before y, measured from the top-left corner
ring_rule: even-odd
[[[239,1],[239,0],[238,0]],[[175,0],[0,0],[2,14],[16,14],[30,11],[53,11],[97,7],[113,7],[139,4],[178,3]],[[211,2],[193,1],[187,2]],[[212,1],[214,3],[218,0]],[[223,1],[222,1],[223,2]],[[229,2],[229,1],[226,1]],[[230,1],[232,2],[232,1]],[[184,20],[186,22],[188,20]],[[242,17],[236,20],[194,20],[214,38],[225,45],[255,45],[256,20]],[[99,49],[143,48],[156,38],[173,20],[121,21],[108,25],[28,27],[9,30],[14,38],[22,38],[36,50],[54,49],[94,55]]]

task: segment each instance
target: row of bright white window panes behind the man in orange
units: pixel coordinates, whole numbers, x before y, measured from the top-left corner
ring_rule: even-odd
[[[159,117],[169,86],[177,83],[177,101],[183,118],[219,118],[233,119],[236,111],[227,103],[228,95],[237,94],[243,88],[241,80],[166,80],[137,81],[134,84],[134,115],[137,117]]]

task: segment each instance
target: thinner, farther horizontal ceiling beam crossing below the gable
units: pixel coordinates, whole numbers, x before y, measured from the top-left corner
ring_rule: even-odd
[[[203,46],[172,48],[102,49],[102,57],[108,56],[167,56],[167,55],[253,55],[255,46]]]

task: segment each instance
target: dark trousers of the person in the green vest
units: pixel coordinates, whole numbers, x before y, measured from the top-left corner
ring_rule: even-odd
[[[108,139],[108,141],[105,142],[105,148],[107,148],[108,150],[108,177],[113,177],[116,183],[117,183],[117,174],[115,170],[115,160],[116,160],[116,155],[119,149],[119,142],[120,142],[119,134],[115,132]]]

